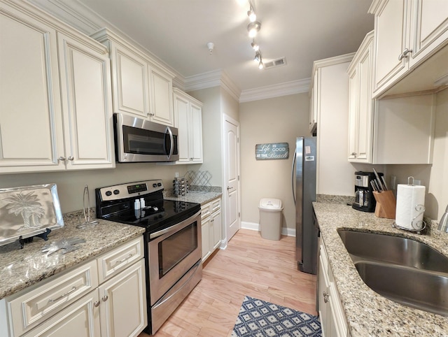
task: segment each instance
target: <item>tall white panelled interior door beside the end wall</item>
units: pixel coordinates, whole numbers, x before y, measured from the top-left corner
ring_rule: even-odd
[[[239,122],[224,116],[224,205],[227,241],[241,228],[239,186]]]

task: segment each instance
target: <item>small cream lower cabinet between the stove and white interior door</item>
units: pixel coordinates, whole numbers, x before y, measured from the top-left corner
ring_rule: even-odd
[[[222,236],[221,197],[201,206],[202,262],[219,247]]]

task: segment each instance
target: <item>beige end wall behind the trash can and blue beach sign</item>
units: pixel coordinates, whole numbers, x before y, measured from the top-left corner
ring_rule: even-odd
[[[241,222],[258,224],[262,198],[283,202],[283,227],[295,229],[291,191],[291,164],[297,136],[309,135],[308,93],[281,96],[240,104],[241,125]],[[289,145],[289,158],[255,160],[255,145]]]

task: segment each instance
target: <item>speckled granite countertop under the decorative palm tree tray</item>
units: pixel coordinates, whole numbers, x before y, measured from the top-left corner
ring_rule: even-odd
[[[143,227],[118,224],[99,219],[94,227],[77,229],[83,222],[83,212],[64,215],[64,227],[54,229],[48,235],[48,241],[34,238],[25,243],[21,250],[18,241],[0,246],[0,299],[34,285],[45,278],[55,275],[66,268],[111,250],[145,231]],[[78,250],[62,254],[55,252],[47,256],[41,252],[44,245],[67,238],[83,238]]]

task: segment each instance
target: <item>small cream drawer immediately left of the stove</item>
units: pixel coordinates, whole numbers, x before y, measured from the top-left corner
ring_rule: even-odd
[[[99,283],[116,275],[141,257],[144,257],[143,236],[106,252],[97,258]]]

